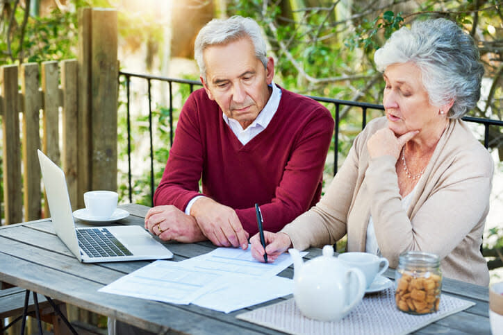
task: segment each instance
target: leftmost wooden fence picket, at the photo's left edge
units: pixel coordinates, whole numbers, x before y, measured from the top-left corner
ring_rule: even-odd
[[[23,221],[17,73],[17,65],[3,66],[0,71],[3,94],[3,194],[6,224]]]

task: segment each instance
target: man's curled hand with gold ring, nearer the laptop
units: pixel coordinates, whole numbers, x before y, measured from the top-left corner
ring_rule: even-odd
[[[163,241],[193,243],[205,241],[195,218],[172,206],[156,206],[145,216],[145,229]]]

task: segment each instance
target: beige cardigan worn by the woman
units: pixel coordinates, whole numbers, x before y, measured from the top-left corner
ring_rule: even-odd
[[[386,126],[385,117],[368,123],[320,202],[281,232],[299,250],[333,244],[347,234],[347,250],[365,251],[372,214],[379,249],[391,268],[407,250],[434,252],[445,277],[487,286],[480,245],[494,169],[490,154],[463,121],[451,120],[405,212],[395,157],[370,160],[367,150],[370,136]]]

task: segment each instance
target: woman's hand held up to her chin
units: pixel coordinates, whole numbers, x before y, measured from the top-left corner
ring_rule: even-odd
[[[374,135],[372,135],[367,141],[367,149],[370,154],[370,158],[390,155],[398,160],[404,144],[417,135],[418,132],[419,130],[411,130],[406,132],[404,135],[396,137],[393,130],[390,130],[389,128],[377,130],[377,132],[375,132]]]

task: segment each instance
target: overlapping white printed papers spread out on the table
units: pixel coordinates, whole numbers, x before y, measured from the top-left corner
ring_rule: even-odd
[[[217,248],[185,261],[154,261],[99,291],[229,313],[291,294],[292,280],[276,276],[290,264],[288,254],[264,264],[249,248]]]

